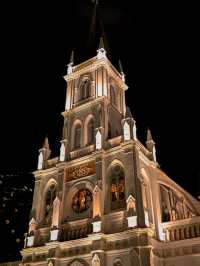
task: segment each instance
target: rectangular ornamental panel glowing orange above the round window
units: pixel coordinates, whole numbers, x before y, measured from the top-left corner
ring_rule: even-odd
[[[66,169],[65,181],[70,181],[76,178],[94,175],[96,173],[95,161],[91,161],[84,164]]]

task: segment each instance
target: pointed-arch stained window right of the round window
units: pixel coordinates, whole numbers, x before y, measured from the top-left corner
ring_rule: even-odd
[[[121,165],[117,164],[113,166],[110,180],[111,210],[125,208],[125,174]]]

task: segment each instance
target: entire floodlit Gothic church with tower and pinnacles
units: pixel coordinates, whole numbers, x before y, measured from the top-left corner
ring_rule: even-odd
[[[106,56],[68,64],[63,139],[38,169],[22,265],[200,265],[200,203],[156,161],[126,107],[125,75]]]

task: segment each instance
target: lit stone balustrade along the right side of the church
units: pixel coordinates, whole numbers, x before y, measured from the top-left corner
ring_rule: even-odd
[[[200,237],[200,217],[163,224],[165,241],[178,241]]]

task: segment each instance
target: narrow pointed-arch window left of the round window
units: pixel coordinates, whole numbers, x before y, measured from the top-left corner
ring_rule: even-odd
[[[44,223],[50,224],[53,215],[53,202],[56,197],[56,184],[51,184],[46,192],[45,196],[45,213],[44,213]]]

